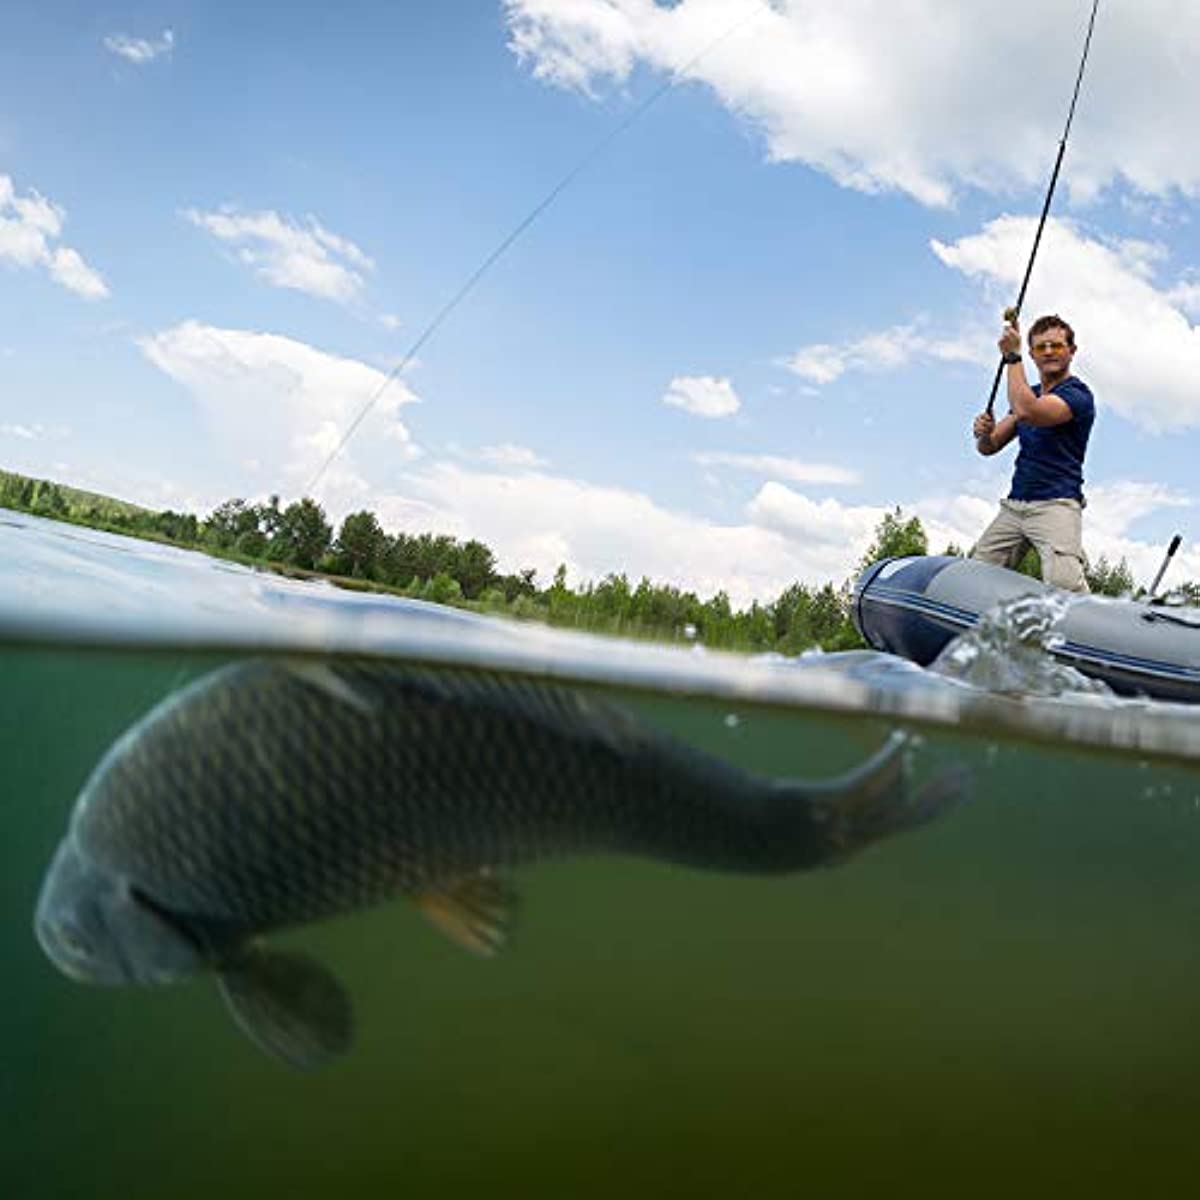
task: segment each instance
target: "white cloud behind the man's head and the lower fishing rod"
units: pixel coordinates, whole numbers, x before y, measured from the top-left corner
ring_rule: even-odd
[[[1015,294],[1034,222],[1000,217],[950,245],[932,242],[948,266],[977,280],[991,299]],[[1105,408],[1152,432],[1200,425],[1200,331],[1177,294],[1154,283],[1166,252],[1141,241],[1099,241],[1051,220],[1025,304],[1027,317],[1060,312],[1079,343],[1075,371]],[[998,334],[998,328],[996,330]]]

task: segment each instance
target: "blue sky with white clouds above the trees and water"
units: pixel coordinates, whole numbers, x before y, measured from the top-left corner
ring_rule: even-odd
[[[895,505],[968,546],[1090,11],[5,0],[0,467],[739,606]],[[1200,5],[1102,0],[1024,310],[1075,329],[1085,550],[1141,583],[1175,532],[1200,577],[1198,110]]]

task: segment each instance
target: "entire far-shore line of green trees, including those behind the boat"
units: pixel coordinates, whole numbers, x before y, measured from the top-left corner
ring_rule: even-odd
[[[310,497],[287,505],[278,496],[263,503],[228,499],[199,517],[137,508],[0,472],[0,506],[152,538],[286,574],[329,576],[342,587],[392,592],[596,632],[781,654],[814,647],[862,647],[850,616],[858,571],[881,558],[929,553],[920,520],[895,508],[884,514],[853,575],[840,586],[796,582],[768,604],[754,601],[734,610],[725,592],[701,599],[695,592],[644,577],[635,583],[623,572],[570,587],[566,568],[560,565],[542,584],[532,568],[515,574],[499,571],[496,554],[476,539],[391,534],[366,509],[349,514],[335,530],[325,510]],[[943,553],[962,552],[952,545]],[[1026,556],[1020,570],[1039,576],[1036,552]],[[1124,559],[1111,564],[1100,557],[1087,564],[1086,574],[1096,593],[1128,595],[1135,590]],[[1184,590],[1192,600],[1200,600],[1196,586],[1184,584]]]

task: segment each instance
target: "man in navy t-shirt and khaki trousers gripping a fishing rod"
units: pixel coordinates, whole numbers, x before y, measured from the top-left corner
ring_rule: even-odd
[[[1008,316],[1006,313],[1006,316]],[[1096,419],[1091,389],[1070,373],[1075,331],[1062,317],[1039,317],[1030,326],[1030,353],[1039,383],[1032,388],[1021,362],[1016,322],[1004,325],[1000,350],[1008,384],[1008,415],[974,419],[976,449],[1003,450],[1013,438],[1020,451],[1008,499],[983,532],[971,557],[1016,566],[1028,546],[1042,559],[1042,578],[1070,592],[1087,592],[1084,578],[1084,455]]]

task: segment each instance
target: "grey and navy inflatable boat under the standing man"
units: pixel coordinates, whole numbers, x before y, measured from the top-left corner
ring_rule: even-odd
[[[998,604],[1050,592],[1016,571],[947,556],[884,558],[854,586],[858,631],[926,666]],[[1123,695],[1200,703],[1200,608],[1072,598],[1051,653]]]

